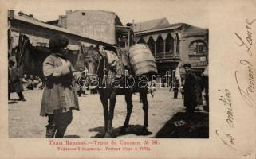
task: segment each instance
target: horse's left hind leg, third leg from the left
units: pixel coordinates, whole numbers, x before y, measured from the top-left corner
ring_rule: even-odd
[[[127,114],[124,122],[124,126],[121,129],[121,132],[124,132],[124,130],[129,126],[130,117],[132,114],[132,93],[128,93],[125,95],[125,102],[127,104]]]

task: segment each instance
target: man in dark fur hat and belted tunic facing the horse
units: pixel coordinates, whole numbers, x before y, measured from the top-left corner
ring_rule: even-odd
[[[69,40],[56,35],[49,40],[49,55],[43,63],[45,88],[41,99],[41,116],[48,117],[46,138],[63,138],[72,121],[72,110],[79,110],[73,88],[74,68],[65,57]]]

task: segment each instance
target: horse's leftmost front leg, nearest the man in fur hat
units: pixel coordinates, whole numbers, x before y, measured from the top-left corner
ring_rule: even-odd
[[[104,92],[100,92],[100,101],[103,106],[103,114],[104,114],[104,134],[108,131],[108,98],[107,95],[104,95]]]

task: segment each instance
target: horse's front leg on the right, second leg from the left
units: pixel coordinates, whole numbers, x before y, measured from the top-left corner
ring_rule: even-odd
[[[116,92],[112,91],[109,99],[109,111],[108,111],[108,131],[105,135],[106,138],[111,137],[112,133],[112,120],[114,118],[114,111],[115,111],[115,105],[116,105]]]

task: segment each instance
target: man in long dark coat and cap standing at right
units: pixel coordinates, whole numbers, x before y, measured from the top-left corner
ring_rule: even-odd
[[[191,73],[191,64],[184,64],[186,71],[184,83],[184,106],[187,107],[187,113],[191,114],[195,110],[196,95],[195,95],[195,76]]]

